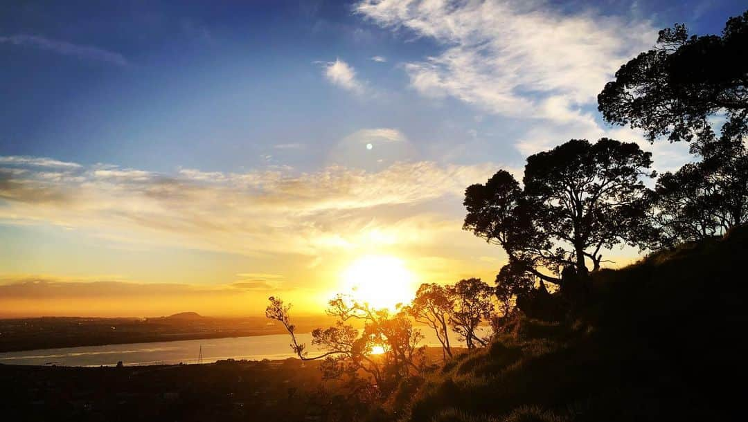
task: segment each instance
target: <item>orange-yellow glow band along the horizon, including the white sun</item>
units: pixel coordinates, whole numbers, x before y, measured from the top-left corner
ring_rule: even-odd
[[[631,261],[634,258],[623,258],[616,266]],[[394,311],[397,303],[413,299],[421,283],[444,285],[470,276],[490,283],[501,265],[499,258],[441,261],[395,249],[361,254],[354,249],[328,257],[311,270],[301,266],[297,272],[290,265],[287,272],[229,273],[226,277],[233,281],[221,284],[10,275],[0,277],[0,318],[161,317],[185,311],[209,317],[262,317],[270,296],[292,304],[295,316],[322,317],[328,300],[337,294]]]

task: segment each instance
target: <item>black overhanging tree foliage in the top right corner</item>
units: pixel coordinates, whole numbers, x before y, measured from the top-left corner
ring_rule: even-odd
[[[643,129],[650,141],[708,143],[714,114],[727,117],[723,133],[745,133],[747,84],[748,11],[728,19],[721,37],[689,37],[684,25],[663,29],[654,49],[629,60],[605,85],[598,110],[608,122]]]

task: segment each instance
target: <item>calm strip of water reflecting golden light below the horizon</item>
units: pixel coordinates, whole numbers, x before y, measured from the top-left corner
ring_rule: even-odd
[[[441,347],[435,333],[421,329],[425,336],[422,345]],[[310,356],[317,350],[311,346],[311,334],[296,336],[307,344]],[[126,365],[197,363],[200,346],[203,363],[220,359],[286,359],[295,357],[289,347],[289,335],[257,335],[254,337],[210,338],[203,340],[161,341],[156,343],[110,344],[108,346],[64,347],[61,349],[26,350],[0,353],[0,364],[56,364],[58,366]],[[464,346],[450,333],[450,343]]]

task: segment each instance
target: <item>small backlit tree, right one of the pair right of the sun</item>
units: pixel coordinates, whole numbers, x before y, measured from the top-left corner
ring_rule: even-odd
[[[485,346],[487,339],[480,337],[476,330],[494,311],[494,289],[480,279],[463,279],[455,285],[447,286],[447,293],[454,303],[450,314],[454,332],[465,341],[468,349],[475,348],[476,343]]]

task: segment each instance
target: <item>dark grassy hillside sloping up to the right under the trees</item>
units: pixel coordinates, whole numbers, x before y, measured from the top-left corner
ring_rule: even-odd
[[[402,421],[745,420],[748,228],[592,275],[560,321],[519,319],[388,403]]]

